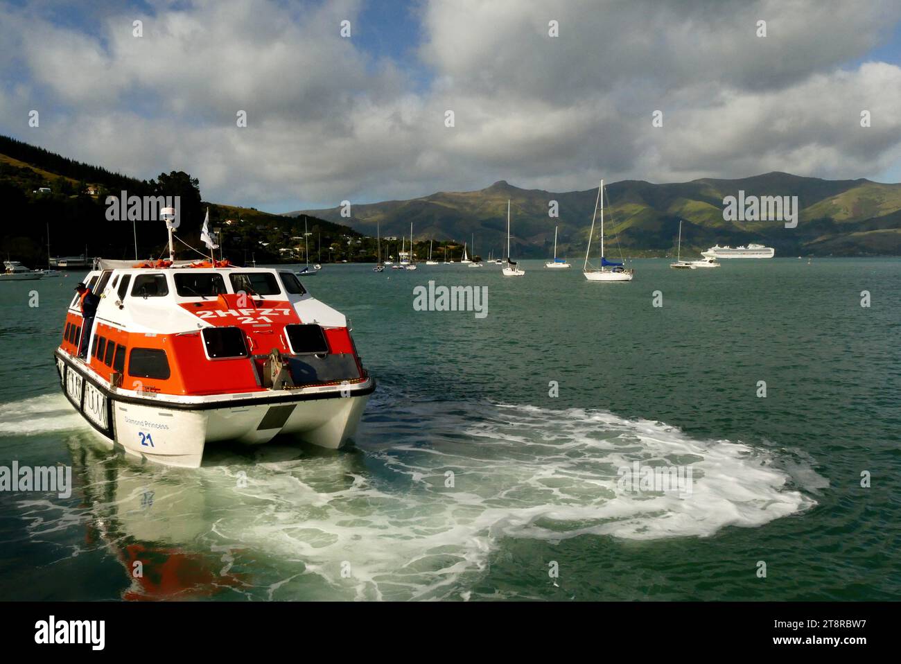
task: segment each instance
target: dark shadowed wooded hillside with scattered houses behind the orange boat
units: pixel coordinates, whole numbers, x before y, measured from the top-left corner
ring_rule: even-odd
[[[50,192],[40,189],[49,188]],[[182,171],[161,173],[141,180],[113,173],[58,154],[0,136],[0,201],[5,223],[0,228],[0,252],[4,259],[21,260],[29,267],[46,267],[47,236],[54,256],[104,256],[133,259],[135,235],[138,256],[158,258],[166,250],[167,235],[162,222],[109,221],[106,196],[181,196],[182,222],[178,236],[203,248],[200,226],[206,208],[213,228],[221,228],[223,255],[232,262],[280,262],[302,259],[304,219],[260,212],[253,208],[205,202],[199,183]],[[231,221],[231,223],[228,223]],[[368,259],[374,249],[359,241],[359,232],[341,223],[314,216],[306,219],[311,235],[310,257],[323,260]],[[177,258],[199,258],[177,244]]]

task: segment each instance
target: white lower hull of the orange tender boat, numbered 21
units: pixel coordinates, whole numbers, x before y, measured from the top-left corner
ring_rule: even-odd
[[[328,393],[278,390],[259,403],[176,405],[118,395],[64,351],[55,357],[63,393],[106,442],[134,457],[184,468],[198,468],[207,444],[223,441],[257,445],[280,435],[337,450],[356,432],[375,389],[369,378]]]

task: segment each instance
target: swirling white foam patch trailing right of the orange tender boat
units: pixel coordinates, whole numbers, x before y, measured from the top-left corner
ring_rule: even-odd
[[[703,538],[815,505],[787,487],[768,452],[698,441],[663,423],[446,403],[394,415],[361,426],[368,473],[346,455],[254,468],[241,490],[256,505],[252,521],[225,517],[217,534],[302,560],[306,574],[347,596],[440,598],[462,596],[461,578],[484,570],[503,537]],[[617,469],[636,460],[690,465],[691,493],[621,490]]]

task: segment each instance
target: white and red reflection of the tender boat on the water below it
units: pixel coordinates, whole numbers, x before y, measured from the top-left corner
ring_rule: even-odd
[[[125,600],[244,599],[259,598],[261,591],[265,597],[271,582],[262,588],[259,578],[255,582],[257,576],[270,576],[265,553],[229,541],[217,525],[227,520],[224,530],[240,532],[236,523],[246,519],[250,524],[260,514],[259,496],[243,493],[248,482],[259,484],[252,476],[260,458],[290,467],[292,461],[309,462],[319,454],[276,444],[262,453],[243,450],[241,457],[236,446],[217,452],[211,468],[187,470],[138,464],[87,432],[70,437],[67,445],[76,490],[84,496],[81,506],[89,511],[86,543],[105,546],[122,565]],[[321,454],[340,454],[351,466],[360,456],[353,450]],[[345,476],[342,481],[350,486],[353,480]],[[243,562],[251,559],[253,574]],[[304,565],[298,563],[296,571],[303,572]]]

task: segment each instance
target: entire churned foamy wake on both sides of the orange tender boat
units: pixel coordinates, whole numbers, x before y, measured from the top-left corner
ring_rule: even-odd
[[[772,452],[696,440],[664,423],[597,410],[377,401],[355,450],[224,447],[196,470],[79,456],[98,443],[89,433],[69,437],[79,499],[113,533],[107,545],[153,542],[203,553],[210,568],[251,569],[252,582],[228,591],[263,599],[465,599],[505,538],[704,538],[815,505]],[[45,414],[68,407],[61,396],[23,405]],[[80,421],[56,417],[42,418],[45,432]],[[0,432],[23,432],[23,419],[8,418],[3,406]],[[690,488],[623,490],[620,469],[635,462],[691,468]],[[814,471],[802,469],[809,480]],[[35,537],[52,518],[48,509],[35,522]]]

